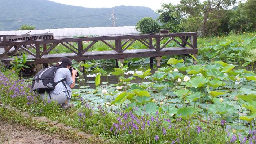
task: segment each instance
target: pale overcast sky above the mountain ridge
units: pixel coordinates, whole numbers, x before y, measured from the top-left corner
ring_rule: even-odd
[[[146,6],[153,10],[161,8],[162,3],[178,4],[180,0],[50,0],[61,4],[87,8],[112,8],[114,6]]]

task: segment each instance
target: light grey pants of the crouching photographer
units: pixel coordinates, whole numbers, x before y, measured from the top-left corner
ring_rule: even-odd
[[[45,98],[47,98],[47,100],[54,100],[58,103],[58,105],[62,105],[64,104],[66,101],[69,102],[70,98],[68,98],[66,96],[66,93],[64,91],[62,91],[61,93],[59,93],[58,95],[56,94],[51,94],[51,99],[48,93],[40,93],[40,96],[43,100],[45,100]]]

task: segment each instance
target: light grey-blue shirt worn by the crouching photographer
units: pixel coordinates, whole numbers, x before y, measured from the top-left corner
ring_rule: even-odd
[[[63,80],[64,78],[66,78],[64,83],[67,87],[67,90],[69,91],[69,95],[71,98],[72,91],[71,91],[71,88],[69,87],[73,83],[71,73],[70,73],[69,69],[67,69],[67,68],[58,68],[55,72],[54,82],[58,82],[60,80]],[[63,85],[63,83],[60,82],[55,86],[55,89],[53,91],[51,91],[50,93],[58,95],[59,93],[64,91],[66,93],[66,96],[69,97],[69,95],[67,94],[67,90],[66,90],[65,86]]]

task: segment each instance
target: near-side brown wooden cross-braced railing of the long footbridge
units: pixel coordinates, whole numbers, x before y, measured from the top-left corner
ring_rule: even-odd
[[[161,41],[167,38],[168,40],[161,45]],[[180,40],[179,40],[180,39]],[[114,46],[109,42],[114,41]],[[83,46],[83,42],[89,42],[88,45]],[[187,33],[168,33],[168,34],[149,34],[149,35],[127,35],[127,36],[103,36],[103,37],[76,37],[76,38],[65,38],[65,39],[45,39],[45,40],[22,40],[22,41],[6,41],[0,42],[0,46],[5,47],[5,51],[1,54],[0,58],[6,53],[8,55],[14,54],[19,48],[26,51],[28,54],[34,56],[35,58],[41,58],[43,55],[47,55],[59,44],[63,45],[67,49],[71,50],[78,56],[83,55],[87,52],[96,42],[101,41],[106,44],[109,48],[116,51],[118,54],[125,52],[129,46],[131,46],[135,41],[140,41],[149,49],[154,49],[156,51],[162,50],[171,41],[176,42],[180,47],[190,46],[193,49],[197,48],[197,33],[187,32]],[[179,42],[181,41],[181,42]],[[73,42],[73,43],[71,43]],[[74,45],[74,42],[77,45]],[[49,47],[47,45],[51,44]],[[26,48],[29,45],[33,50]],[[9,51],[13,46],[15,49]],[[41,47],[42,50],[41,50]]]

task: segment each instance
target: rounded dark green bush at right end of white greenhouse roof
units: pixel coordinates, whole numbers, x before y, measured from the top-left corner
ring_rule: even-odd
[[[160,26],[153,18],[145,17],[138,21],[136,30],[142,34],[159,33]]]

